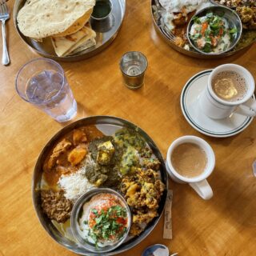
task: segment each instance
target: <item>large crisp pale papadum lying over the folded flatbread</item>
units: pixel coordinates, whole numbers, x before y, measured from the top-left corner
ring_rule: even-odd
[[[88,21],[94,5],[95,0],[28,0],[18,12],[18,28],[30,38],[66,34],[70,26],[74,32],[81,28],[80,22]]]

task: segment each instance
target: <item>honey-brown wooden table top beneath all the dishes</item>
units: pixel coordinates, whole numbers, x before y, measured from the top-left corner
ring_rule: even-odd
[[[14,5],[14,0],[8,2]],[[163,218],[145,241],[122,256],[140,255],[146,246],[163,243],[179,255],[255,255],[256,159],[255,121],[232,138],[199,134],[183,118],[179,97],[195,73],[233,62],[256,78],[256,46],[245,54],[222,60],[200,60],[178,54],[156,34],[150,1],[127,1],[126,17],[109,48],[82,62],[61,63],[78,102],[78,116],[106,114],[134,122],[154,139],[163,156],[175,138],[194,134],[206,139],[216,154],[209,182],[214,198],[204,201],[190,186],[170,182],[174,190],[173,240],[162,239]],[[7,22],[10,66],[0,66],[0,254],[74,255],[50,238],[38,222],[31,199],[31,178],[38,154],[64,125],[22,101],[14,89],[18,69],[38,55]],[[1,46],[2,49],[2,46]],[[140,90],[122,84],[118,62],[122,54],[139,50],[149,66]]]

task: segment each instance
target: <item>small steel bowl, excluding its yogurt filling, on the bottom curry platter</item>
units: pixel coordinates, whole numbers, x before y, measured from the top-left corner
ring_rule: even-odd
[[[122,202],[122,205],[126,207],[127,217],[128,217],[128,228],[126,230],[126,234],[124,234],[124,236],[118,242],[114,243],[114,245],[99,247],[99,246],[95,246],[93,243],[90,243],[86,241],[84,238],[82,238],[82,236],[80,235],[81,231],[79,229],[78,220],[79,218],[82,217],[82,206],[86,202],[89,202],[90,199],[93,198],[95,195],[105,194],[105,193],[114,194],[119,198],[120,202]],[[126,238],[129,234],[130,226],[131,226],[131,213],[130,213],[130,207],[128,206],[126,200],[122,197],[121,194],[119,194],[118,192],[112,189],[99,188],[99,189],[90,190],[86,192],[86,194],[83,194],[80,198],[78,198],[78,201],[75,202],[73,210],[71,212],[70,220],[71,220],[71,230],[74,235],[74,238],[78,241],[78,244],[82,246],[84,249],[86,249],[87,251],[89,250],[94,253],[104,254],[106,252],[110,252],[111,250],[114,250],[118,246],[121,246],[121,244],[126,241]]]

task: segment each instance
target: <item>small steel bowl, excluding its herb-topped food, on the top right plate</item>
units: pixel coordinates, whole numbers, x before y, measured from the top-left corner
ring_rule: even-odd
[[[217,14],[218,16],[221,16],[223,18],[226,18],[226,21],[229,23],[231,28],[236,27],[238,32],[236,33],[235,38],[233,38],[230,47],[227,48],[226,50],[223,50],[222,52],[219,53],[206,53],[200,49],[198,49],[198,47],[194,44],[194,41],[190,38],[190,30],[191,30],[191,26],[194,24],[194,17],[197,16],[199,18],[206,16],[207,13],[214,13]],[[187,26],[186,29],[186,34],[187,34],[187,38],[190,42],[190,45],[194,48],[194,50],[197,50],[198,52],[200,52],[201,54],[205,54],[205,55],[221,55],[224,54],[230,50],[232,50],[234,48],[234,46],[237,45],[238,41],[241,38],[242,35],[242,22],[241,19],[239,18],[238,14],[234,12],[234,10],[231,10],[230,8],[226,7],[226,6],[208,6],[202,10],[199,10],[196,14],[194,14],[194,16],[190,19],[190,22]]]

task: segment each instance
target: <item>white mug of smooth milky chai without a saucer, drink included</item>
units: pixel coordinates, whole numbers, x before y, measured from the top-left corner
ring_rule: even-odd
[[[166,156],[166,170],[174,182],[189,184],[201,198],[212,198],[206,178],[215,166],[214,150],[202,138],[183,136],[171,143]]]

